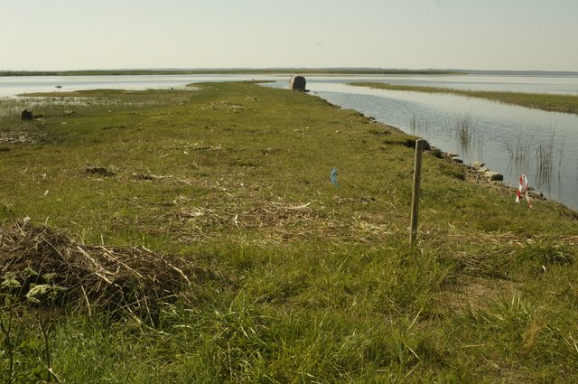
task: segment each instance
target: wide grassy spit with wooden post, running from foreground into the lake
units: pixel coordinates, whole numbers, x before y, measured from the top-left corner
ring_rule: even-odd
[[[28,217],[60,229],[71,240],[50,239],[75,257],[144,246],[184,259],[190,284],[147,304],[152,315],[111,314],[90,295],[31,302],[18,293],[34,271],[2,267],[1,382],[578,374],[575,212],[548,201],[528,210],[428,152],[410,250],[415,138],[394,127],[249,83],[46,96],[19,106],[34,102],[41,118],[21,121],[14,105],[0,114],[0,218],[10,239],[37,241],[0,237],[0,257],[14,265],[11,255],[53,249],[45,232],[14,229]],[[107,273],[110,284],[98,281],[114,286]],[[47,289],[66,281],[43,278]]]

